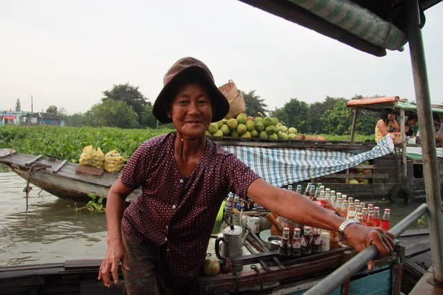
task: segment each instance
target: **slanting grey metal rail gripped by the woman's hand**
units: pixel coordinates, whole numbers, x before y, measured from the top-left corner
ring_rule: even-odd
[[[390,229],[390,233],[392,233],[396,238],[401,235],[408,227],[417,221],[417,219],[424,215],[427,210],[427,205],[422,204],[417,209],[415,209],[408,216],[404,217],[401,222]],[[343,284],[345,280],[350,278],[356,271],[359,271],[362,267],[366,265],[369,260],[372,260],[377,256],[379,251],[377,247],[374,245],[370,245],[368,248],[364,249],[356,256],[354,256],[351,260],[346,262],[341,267],[338,267],[332,274],[329,274],[326,278],[324,278],[320,283],[316,284],[311,289],[305,292],[305,295],[320,295],[320,294],[331,294],[336,287]]]

